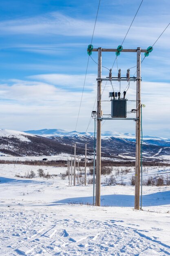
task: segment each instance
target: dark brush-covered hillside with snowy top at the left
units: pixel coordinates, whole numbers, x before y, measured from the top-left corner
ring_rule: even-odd
[[[70,145],[30,133],[0,129],[0,155],[36,156],[67,153]]]

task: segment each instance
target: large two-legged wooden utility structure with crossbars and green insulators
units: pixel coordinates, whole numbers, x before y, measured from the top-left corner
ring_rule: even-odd
[[[90,46],[90,47],[89,47]],[[140,197],[140,126],[141,126],[141,52],[149,53],[152,47],[148,49],[123,49],[121,45],[117,49],[104,49],[95,48],[89,45],[88,52],[98,52],[98,75],[97,75],[97,148],[96,148],[96,206],[100,206],[100,182],[101,182],[101,121],[102,120],[134,120],[136,121],[136,159],[135,159],[135,209],[139,209],[139,197]],[[150,51],[151,50],[151,51]],[[136,118],[104,118],[101,117],[101,84],[102,81],[119,81],[118,78],[110,77],[102,78],[102,52],[117,52],[119,56],[120,52],[137,52],[137,78],[130,77],[129,81],[137,81],[137,97],[136,97]],[[91,55],[91,54],[89,54]],[[120,81],[127,81],[126,77],[120,79]]]

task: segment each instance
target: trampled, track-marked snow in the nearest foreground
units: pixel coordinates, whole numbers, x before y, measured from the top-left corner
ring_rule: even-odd
[[[46,212],[47,213],[47,212]],[[11,227],[5,219],[11,220]],[[170,255],[170,246],[120,221],[57,219],[55,212],[2,212],[0,255]],[[133,227],[132,227],[133,226]]]

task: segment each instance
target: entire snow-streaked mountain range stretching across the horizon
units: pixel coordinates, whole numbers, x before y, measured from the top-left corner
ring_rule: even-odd
[[[29,133],[27,133],[29,132]],[[84,155],[84,143],[88,142],[88,156],[93,155],[93,132],[76,132],[62,129],[43,129],[19,132],[0,130],[0,154],[16,156],[57,155],[73,152]],[[143,159],[167,159],[170,155],[170,139],[144,137]],[[102,133],[102,156],[112,159],[135,159],[135,135],[120,132]]]

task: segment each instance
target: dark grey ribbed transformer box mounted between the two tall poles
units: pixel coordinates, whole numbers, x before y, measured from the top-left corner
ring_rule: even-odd
[[[111,117],[126,118],[127,99],[111,99]]]

